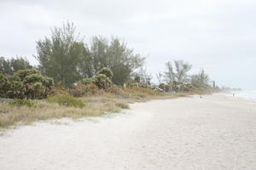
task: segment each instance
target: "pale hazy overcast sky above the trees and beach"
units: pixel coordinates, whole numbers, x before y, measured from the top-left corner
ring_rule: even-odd
[[[0,56],[37,64],[35,42],[69,20],[85,42],[124,38],[148,56],[154,77],[183,59],[218,85],[256,89],[255,8],[255,0],[0,0]]]

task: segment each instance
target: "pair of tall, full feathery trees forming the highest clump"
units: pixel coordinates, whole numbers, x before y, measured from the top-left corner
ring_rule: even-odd
[[[35,56],[39,70],[53,77],[55,82],[71,87],[81,77],[93,77],[104,68],[114,84],[122,85],[131,78],[132,73],[143,65],[144,58],[134,54],[119,38],[92,37],[90,45],[76,36],[76,28],[67,22],[61,28],[55,27],[51,37],[37,42]],[[90,47],[90,48],[88,48]],[[103,70],[104,71],[104,70]]]

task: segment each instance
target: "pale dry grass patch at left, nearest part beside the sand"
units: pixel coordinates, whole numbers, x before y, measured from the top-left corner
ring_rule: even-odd
[[[102,102],[96,105],[88,104],[84,108],[75,108],[46,101],[38,101],[37,107],[34,108],[26,106],[14,107],[3,103],[0,104],[0,108],[1,128],[61,117],[80,118],[84,116],[102,116],[110,112],[119,112],[124,107],[120,103]]]

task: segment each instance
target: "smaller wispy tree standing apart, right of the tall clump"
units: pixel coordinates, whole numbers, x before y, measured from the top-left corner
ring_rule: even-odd
[[[183,60],[174,60],[173,62],[174,67],[170,61],[166,63],[166,82],[188,82],[189,76],[187,73],[191,70],[192,65]]]

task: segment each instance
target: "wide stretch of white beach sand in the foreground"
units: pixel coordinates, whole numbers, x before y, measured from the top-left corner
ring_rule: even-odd
[[[125,112],[11,130],[0,136],[0,169],[256,169],[256,102],[214,94]]]

